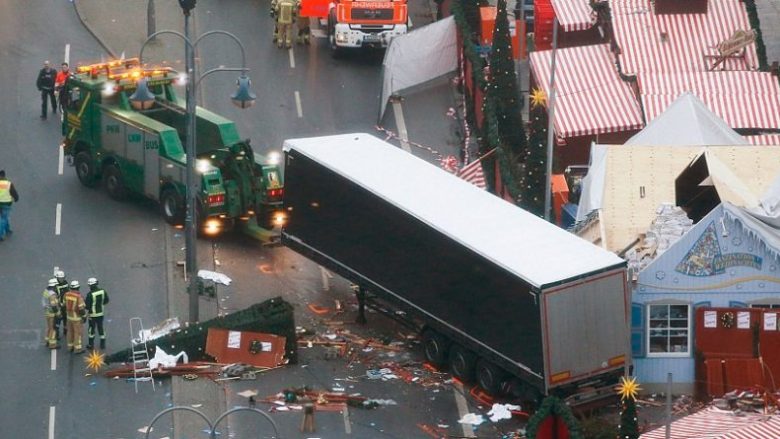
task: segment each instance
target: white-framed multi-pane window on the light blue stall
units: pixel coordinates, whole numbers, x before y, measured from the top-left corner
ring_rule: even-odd
[[[690,306],[655,304],[647,307],[647,356],[690,355]]]

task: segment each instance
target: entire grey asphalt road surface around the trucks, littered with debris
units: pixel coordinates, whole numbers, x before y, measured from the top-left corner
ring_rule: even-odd
[[[415,22],[422,24],[429,17],[426,7],[412,5]],[[235,120],[239,132],[251,138],[259,152],[278,151],[282,140],[290,137],[376,133],[381,52],[355,52],[333,59],[321,39],[309,47],[279,50],[271,44],[272,22],[266,3],[260,1],[201,0],[196,30],[211,29],[229,30],[246,45],[258,104],[248,110],[232,106],[228,96],[234,90],[233,73],[205,79],[200,104]],[[155,393],[142,384],[136,395],[131,383],[85,376],[82,358],[64,350],[52,357],[41,344],[40,294],[54,266],[82,284],[91,276],[101,279],[111,295],[107,328],[112,352],[126,347],[130,317],[142,316],[148,324],[168,317],[166,262],[170,267],[171,261],[183,259],[182,234],[167,228],[154,205],[138,200],[117,203],[101,189],[84,188],[67,164],[60,174],[59,123],[53,117],[45,122],[38,119],[40,100],[34,80],[42,60],[50,59],[56,65],[66,45],[72,60],[102,56],[67,1],[0,0],[0,54],[3,60],[18,60],[0,64],[4,96],[14,98],[14,105],[0,109],[0,132],[5,134],[0,138],[0,167],[7,170],[21,195],[12,214],[16,233],[0,243],[3,292],[13,298],[0,310],[0,366],[4,371],[0,383],[5,396],[0,400],[0,421],[6,421],[0,436],[143,437],[138,429],[171,404],[169,381],[163,381]],[[234,66],[240,63],[239,51],[228,39],[204,40],[199,62],[201,72],[219,65]],[[408,99],[415,102],[406,109],[410,138],[441,153],[457,154],[454,122],[443,114],[452,105],[446,86]],[[388,115],[385,126],[395,131],[392,110]],[[437,158],[426,148],[412,150],[430,160]],[[321,329],[308,304],[351,300],[343,279],[329,276],[287,249],[263,248],[240,235],[214,242],[201,240],[199,261],[201,268],[222,271],[234,281],[219,289],[216,300],[202,301],[202,318],[282,295],[296,307],[299,325]],[[354,315],[342,317],[351,321]],[[394,322],[378,315],[370,320],[369,328],[353,329],[376,337],[397,336],[399,327]],[[420,355],[412,350],[404,358],[419,360]],[[344,383],[341,380],[347,376],[361,375],[363,365],[347,369],[343,360],[324,361],[321,350],[305,349],[299,365],[273,371],[257,382],[227,383],[223,391],[230,408],[246,404],[238,395],[242,390],[253,388],[266,395],[288,386],[325,389]],[[318,414],[318,431],[307,436],[298,431],[299,416],[275,414],[284,437],[427,437],[417,423],[456,426],[461,415],[456,394],[449,387],[424,389],[358,378],[349,389],[393,399],[398,405],[370,412],[352,410],[346,415]],[[165,425],[156,429],[156,437],[165,436]],[[232,418],[226,426],[230,431],[224,433],[230,437],[250,437],[250,432],[260,430],[255,420],[245,417]],[[451,431],[463,434],[459,427]],[[494,433],[489,427],[480,431],[484,437]]]

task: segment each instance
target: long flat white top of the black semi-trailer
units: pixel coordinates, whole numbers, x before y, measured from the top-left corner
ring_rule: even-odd
[[[369,134],[290,139],[284,150],[317,161],[538,289],[625,264]]]

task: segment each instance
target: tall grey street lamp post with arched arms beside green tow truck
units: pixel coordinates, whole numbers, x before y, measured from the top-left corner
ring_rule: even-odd
[[[187,196],[186,196],[186,214],[184,218],[184,239],[185,239],[185,270],[187,275],[187,293],[189,295],[189,322],[197,322],[198,321],[198,301],[199,301],[199,294],[198,294],[198,285],[197,285],[197,275],[198,275],[198,260],[197,260],[197,210],[196,206],[198,203],[198,190],[196,189],[199,186],[199,181],[196,178],[196,162],[197,162],[197,150],[196,150],[196,88],[201,80],[203,80],[206,76],[216,73],[216,72],[241,72],[241,76],[239,76],[238,80],[236,81],[237,89],[236,92],[230,96],[232,102],[239,108],[249,108],[251,107],[256,100],[256,96],[252,91],[250,90],[251,87],[251,81],[249,77],[246,75],[246,72],[249,70],[246,68],[246,51],[244,50],[244,45],[241,43],[241,40],[239,40],[235,35],[221,31],[221,30],[213,30],[204,33],[200,37],[198,37],[194,42],[192,41],[192,38],[190,37],[190,15],[192,9],[195,7],[195,1],[186,1],[186,0],[179,0],[182,11],[184,12],[184,34],[181,34],[177,31],[172,30],[161,30],[158,32],[155,32],[151,34],[144,44],[141,46],[141,52],[139,54],[139,61],[143,64],[143,56],[144,56],[144,49],[146,48],[146,45],[152,41],[157,35],[160,34],[172,34],[180,37],[182,40],[184,40],[184,52],[185,52],[185,71],[187,73],[187,82],[186,82],[186,97],[187,97],[187,104],[186,104],[186,119],[185,119],[185,152],[187,154],[187,163],[186,163],[186,177],[185,177],[185,184],[187,188]],[[195,71],[195,48],[198,46],[198,43],[207,36],[211,35],[226,35],[230,38],[232,38],[237,44],[238,47],[241,49],[241,68],[237,67],[217,67],[214,69],[211,69],[200,77],[196,76]],[[136,94],[142,95],[144,92],[144,89],[146,90],[146,93],[148,92],[148,87],[146,86],[145,81],[139,81],[138,89],[136,90]],[[135,94],[134,94],[135,96]],[[130,98],[131,102],[133,101],[133,97]]]

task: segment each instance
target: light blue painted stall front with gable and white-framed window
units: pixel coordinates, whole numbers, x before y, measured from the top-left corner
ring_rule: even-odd
[[[632,284],[634,374],[649,391],[694,385],[694,310],[700,306],[780,308],[780,249],[719,205]]]

